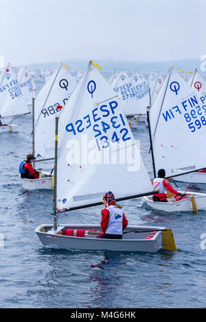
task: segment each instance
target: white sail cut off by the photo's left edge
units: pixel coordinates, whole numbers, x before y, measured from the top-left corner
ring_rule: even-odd
[[[10,64],[4,69],[0,79],[0,114],[3,117],[30,112],[21,91],[21,85]]]

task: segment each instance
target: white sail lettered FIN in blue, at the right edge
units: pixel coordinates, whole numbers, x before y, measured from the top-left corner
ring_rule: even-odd
[[[206,166],[206,107],[174,69],[150,111],[156,170],[166,175]]]

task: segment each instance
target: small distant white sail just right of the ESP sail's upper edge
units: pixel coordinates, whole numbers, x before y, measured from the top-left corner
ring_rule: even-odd
[[[120,71],[117,78],[112,84],[113,90],[118,95],[121,101],[121,106],[126,115],[141,114],[141,108],[137,102],[137,91],[135,84],[130,81],[130,78],[125,71]]]

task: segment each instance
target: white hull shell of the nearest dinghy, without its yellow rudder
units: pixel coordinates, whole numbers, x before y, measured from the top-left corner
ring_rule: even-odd
[[[45,232],[41,232],[44,227]],[[97,235],[85,234],[84,237],[76,236],[64,236],[59,232],[63,227],[71,228],[74,230],[96,230],[100,231],[101,228],[98,225],[60,225],[58,230],[54,231],[52,225],[40,225],[36,227],[36,232],[41,243],[47,247],[60,247],[69,249],[81,249],[87,251],[144,251],[150,253],[156,253],[162,248],[162,234],[161,231],[155,233],[150,239],[146,239],[150,232],[156,230],[164,230],[165,227],[154,226],[130,226],[127,227],[124,232],[129,230],[142,230],[140,233],[131,232],[129,234],[123,234],[122,240],[119,239],[100,239]],[[146,232],[144,232],[146,230]],[[149,232],[148,232],[149,231]]]

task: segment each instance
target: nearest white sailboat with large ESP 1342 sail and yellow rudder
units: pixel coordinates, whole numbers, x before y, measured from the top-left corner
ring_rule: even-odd
[[[139,160],[134,169],[128,158],[111,162],[116,153],[125,157],[132,147]],[[172,232],[165,227],[130,226],[122,240],[111,240],[96,238],[100,225],[57,223],[60,212],[100,205],[108,190],[117,201],[153,193],[117,96],[93,62],[56,118],[55,151],[54,225],[39,225],[35,230],[44,246],[153,253],[162,247],[176,250]]]

